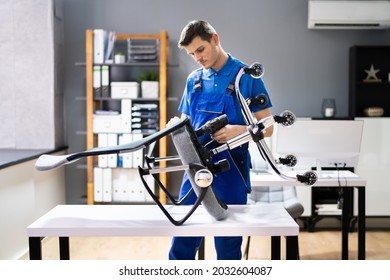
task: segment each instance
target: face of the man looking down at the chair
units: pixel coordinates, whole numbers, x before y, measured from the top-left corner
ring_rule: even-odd
[[[219,53],[218,36],[214,34],[210,42],[202,40],[199,36],[195,37],[184,49],[203,68],[213,68]]]

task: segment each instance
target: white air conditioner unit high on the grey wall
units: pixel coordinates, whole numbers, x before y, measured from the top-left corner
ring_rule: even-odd
[[[309,0],[308,28],[390,28],[390,1]]]

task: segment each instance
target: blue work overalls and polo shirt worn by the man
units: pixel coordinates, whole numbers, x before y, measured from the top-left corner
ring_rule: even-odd
[[[197,69],[187,78],[179,111],[190,116],[194,129],[198,129],[207,121],[226,114],[229,124],[245,125],[241,106],[237,99],[234,82],[239,70],[245,66],[241,61],[229,54],[226,64],[219,70]],[[253,79],[243,75],[240,91],[245,99],[264,94],[268,103],[263,107],[250,106],[253,112],[272,106],[268,92],[262,79]],[[220,144],[211,139],[210,135],[199,138],[202,145],[215,148]],[[230,164],[228,171],[216,174],[212,187],[216,195],[226,204],[246,204],[247,194],[251,190],[249,180],[250,155],[248,144],[241,145],[231,151],[224,151],[213,157],[213,162],[227,159]],[[191,189],[187,174],[184,174],[179,198]],[[185,204],[193,204],[195,194],[186,199]],[[202,237],[174,237],[169,252],[169,259],[195,259]],[[242,237],[215,237],[217,259],[241,259]]]

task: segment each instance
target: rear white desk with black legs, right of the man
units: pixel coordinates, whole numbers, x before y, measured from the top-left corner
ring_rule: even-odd
[[[303,174],[299,171],[284,171],[287,176],[295,177],[295,175]],[[350,171],[322,171],[322,176],[318,179],[313,187],[342,187],[342,188],[357,188],[358,189],[358,259],[364,260],[366,258],[366,198],[365,187],[366,180]],[[285,180],[274,173],[251,173],[252,187],[264,186],[302,186],[308,188],[304,184],[294,181]],[[347,192],[349,193],[349,192]],[[347,209],[352,203],[351,198],[344,199],[342,209],[342,259],[348,259],[348,217],[346,215]]]

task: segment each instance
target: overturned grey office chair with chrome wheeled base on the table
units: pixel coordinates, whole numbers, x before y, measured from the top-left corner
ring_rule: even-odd
[[[259,100],[245,100],[242,94],[239,91],[239,82],[240,78],[244,74],[249,74],[253,78],[260,78],[263,73],[261,64],[253,64],[251,67],[242,67],[239,71],[239,74],[236,77],[235,88],[236,96],[241,105],[242,113],[244,115],[245,122],[247,123],[247,131],[230,139],[224,144],[217,146],[211,150],[207,149],[204,145],[201,145],[198,137],[204,134],[212,134],[214,131],[222,128],[228,124],[227,117],[220,116],[214,120],[210,120],[204,124],[201,128],[195,130],[188,117],[173,119],[172,122],[168,123],[167,127],[164,129],[146,136],[143,139],[139,139],[132,143],[126,143],[122,145],[110,146],[110,147],[96,147],[82,152],[76,152],[68,155],[42,155],[38,158],[35,163],[35,168],[37,170],[50,170],[63,166],[65,164],[73,163],[80,158],[87,156],[97,156],[103,154],[119,154],[122,152],[133,152],[140,149],[144,149],[149,145],[154,144],[160,138],[170,135],[172,137],[178,156],[166,157],[166,158],[148,158],[146,162],[148,166],[146,168],[139,166],[138,171],[141,177],[142,183],[144,184],[147,192],[151,195],[156,204],[160,207],[161,211],[167,216],[169,221],[175,225],[182,225],[196,210],[196,208],[203,204],[206,210],[211,216],[216,220],[223,220],[228,216],[228,207],[221,201],[213,191],[212,182],[215,174],[223,172],[230,168],[229,162],[227,159],[222,159],[216,163],[213,162],[212,158],[214,155],[217,155],[223,151],[234,149],[242,144],[248,143],[253,140],[256,145],[257,152],[262,155],[262,157],[269,163],[269,166],[277,173],[280,177],[287,180],[298,180],[306,185],[313,185],[317,181],[317,175],[308,171],[303,175],[297,174],[296,176],[287,176],[283,174],[278,166],[276,161],[273,159],[271,152],[268,149],[268,146],[263,141],[263,131],[269,127],[274,126],[276,123],[280,123],[283,126],[290,126],[295,121],[295,116],[289,111],[283,112],[281,115],[269,116],[262,120],[255,120],[250,109],[248,102],[259,103],[259,100],[265,102],[264,98],[259,98]],[[261,97],[261,96],[260,96]],[[255,98],[256,99],[256,98]],[[260,102],[260,103],[262,103]],[[152,163],[168,160],[179,160],[181,165],[170,166],[170,167],[161,167],[154,168]],[[289,164],[290,160],[286,159],[286,164]],[[176,171],[185,171],[191,181],[192,189],[197,196],[197,200],[194,203],[190,211],[180,220],[175,220],[170,213],[165,209],[164,205],[160,202],[159,198],[155,195],[152,188],[150,188],[144,179],[144,176],[152,175],[158,187],[160,187],[168,196],[172,198],[172,202],[175,205],[178,205],[182,202],[176,201],[172,195],[168,195],[168,189],[159,182],[157,175],[160,173],[166,172],[176,172]],[[185,196],[187,197],[187,196]]]

